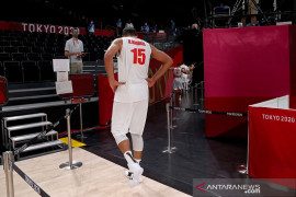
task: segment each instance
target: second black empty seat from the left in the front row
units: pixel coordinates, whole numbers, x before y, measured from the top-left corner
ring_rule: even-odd
[[[36,61],[22,61],[24,82],[37,82],[41,80],[41,71]]]

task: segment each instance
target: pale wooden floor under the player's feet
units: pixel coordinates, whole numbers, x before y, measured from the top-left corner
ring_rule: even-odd
[[[73,149],[73,160],[81,161],[82,167],[67,171],[59,164],[68,161],[68,151],[53,153],[15,164],[52,197],[183,197],[175,190],[153,179],[130,188],[124,176],[125,169],[92,154],[83,149]],[[38,195],[14,172],[14,196],[37,197]],[[4,172],[0,170],[0,196],[5,197]]]

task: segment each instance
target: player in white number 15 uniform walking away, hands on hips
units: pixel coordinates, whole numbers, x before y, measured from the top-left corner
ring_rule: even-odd
[[[117,55],[118,81],[114,79],[113,57]],[[160,69],[148,78],[150,57],[162,62]],[[143,155],[143,131],[146,124],[149,88],[163,76],[172,65],[172,59],[152,45],[137,38],[133,27],[123,30],[123,37],[115,39],[104,56],[109,83],[114,95],[112,112],[112,135],[124,154],[129,169],[129,185],[136,186],[144,172],[139,165]],[[130,132],[130,143],[126,137]]]

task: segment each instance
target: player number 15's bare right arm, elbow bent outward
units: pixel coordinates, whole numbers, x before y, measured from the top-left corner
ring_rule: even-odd
[[[151,57],[159,60],[162,65],[158,69],[158,71],[152,76],[151,78],[147,79],[148,86],[151,88],[156,83],[156,81],[161,78],[167,70],[171,67],[173,63],[173,60],[170,56],[168,56],[166,53],[157,49],[155,46],[150,45],[151,47]]]

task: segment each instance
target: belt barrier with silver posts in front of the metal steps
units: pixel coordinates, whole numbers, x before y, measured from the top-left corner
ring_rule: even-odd
[[[15,171],[39,196],[49,197],[49,195],[43,190],[32,178],[30,178],[21,169],[14,164],[14,157],[22,153],[27,147],[33,144],[36,140],[44,138],[45,135],[57,127],[59,123],[67,119],[67,130],[68,130],[68,150],[69,150],[69,162],[59,165],[60,169],[75,170],[82,166],[81,162],[72,161],[72,146],[71,146],[71,128],[70,128],[70,116],[79,107],[77,104],[72,109],[67,108],[66,115],[60,117],[53,126],[48,127],[46,130],[42,131],[38,136],[31,139],[29,142],[23,144],[15,151],[3,152],[3,170],[5,174],[5,185],[7,185],[7,196],[14,197],[14,185],[13,185],[13,171]]]

